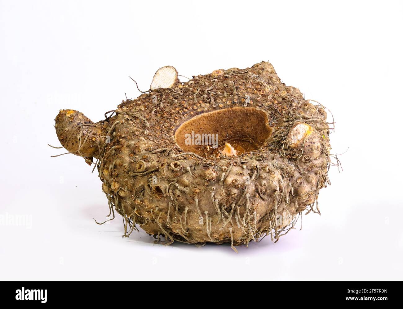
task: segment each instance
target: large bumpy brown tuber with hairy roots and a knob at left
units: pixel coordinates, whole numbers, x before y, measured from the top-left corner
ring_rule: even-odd
[[[240,245],[267,234],[277,241],[303,210],[318,212],[319,189],[328,183],[326,112],[283,84],[268,62],[178,80],[123,101],[112,115],[94,124],[62,110],[56,132],[70,152],[98,159],[124,236],[138,224],[167,243]],[[218,133],[221,150],[239,138],[245,153],[187,146],[183,128]]]

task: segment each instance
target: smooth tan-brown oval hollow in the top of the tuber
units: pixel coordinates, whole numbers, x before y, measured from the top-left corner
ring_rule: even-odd
[[[231,107],[184,122],[175,132],[175,141],[183,151],[205,156],[206,146],[219,151],[225,143],[230,143],[237,153],[249,152],[262,147],[271,134],[265,111]]]

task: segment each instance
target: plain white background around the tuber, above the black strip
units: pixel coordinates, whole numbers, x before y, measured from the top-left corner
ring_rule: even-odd
[[[402,14],[398,1],[0,1],[0,279],[402,280]],[[321,216],[239,254],[94,223],[108,214],[97,174],[50,158],[59,109],[99,121],[139,95],[128,75],[146,90],[164,65],[191,77],[262,60],[333,112],[332,153],[349,147]]]

